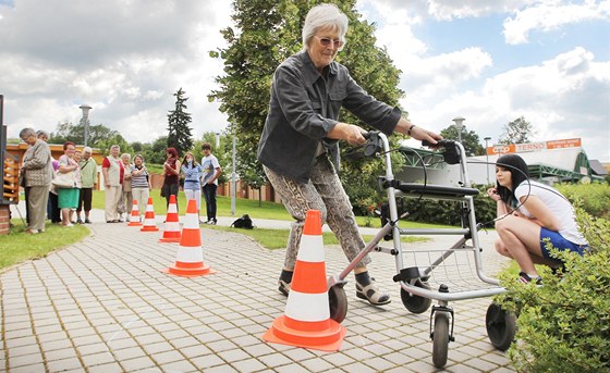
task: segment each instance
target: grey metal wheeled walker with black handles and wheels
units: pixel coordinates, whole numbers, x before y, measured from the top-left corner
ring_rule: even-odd
[[[479,191],[471,188],[466,170],[464,147],[457,141],[441,140],[439,147],[448,164],[460,164],[461,187],[404,183],[394,178],[390,159],[390,146],[385,134],[370,132],[367,144],[359,153],[364,157],[383,157],[386,175],[379,177],[379,185],[386,189],[388,204],[380,211],[386,224],[369,241],[363,251],[338,275],[328,278],[328,293],[331,318],[342,322],[347,313],[347,297],[343,289],[345,277],[354,270],[366,254],[371,251],[391,254],[395,258],[396,273],[392,277],[401,286],[401,300],[413,313],[426,312],[432,300],[430,313],[430,338],[432,340],[432,362],[435,366],[447,364],[448,346],[454,340],[453,326],[455,315],[449,306],[450,301],[490,297],[503,293],[498,279],[487,276],[481,265],[481,248],[479,247],[478,229],[474,196]],[[428,144],[423,144],[427,146]],[[396,208],[396,198],[423,198],[448,200],[461,204],[460,228],[401,228]],[[401,236],[407,235],[453,235],[459,236],[455,244],[447,249],[402,249]],[[379,243],[392,240],[391,248],[383,248]],[[466,245],[471,240],[472,245]],[[405,263],[408,263],[405,266]],[[516,319],[511,312],[491,303],[486,315],[487,335],[491,344],[499,350],[507,350],[516,331]]]

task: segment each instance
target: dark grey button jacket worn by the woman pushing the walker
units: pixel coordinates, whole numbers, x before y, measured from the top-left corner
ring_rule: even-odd
[[[306,51],[276,70],[269,113],[258,142],[258,161],[280,175],[307,183],[322,141],[339,166],[339,144],[326,135],[339,122],[341,107],[366,124],[390,135],[401,111],[369,96],[347,69],[332,62],[322,76]]]

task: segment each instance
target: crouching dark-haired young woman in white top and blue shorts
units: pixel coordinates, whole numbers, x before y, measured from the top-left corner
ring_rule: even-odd
[[[578,232],[573,206],[557,189],[529,181],[521,157],[500,157],[496,179],[496,188],[487,190],[497,202],[496,250],[517,262],[522,282],[540,283],[534,264],[561,266],[559,259],[551,258],[547,241],[559,250],[584,254],[587,241]]]

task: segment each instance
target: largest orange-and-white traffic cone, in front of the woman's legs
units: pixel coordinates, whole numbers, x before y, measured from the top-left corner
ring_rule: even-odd
[[[330,319],[321,214],[308,210],[285,312],[263,339],[322,351],[337,351],[347,332]]]

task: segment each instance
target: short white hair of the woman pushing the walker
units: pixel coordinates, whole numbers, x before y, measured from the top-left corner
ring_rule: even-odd
[[[335,4],[319,4],[309,10],[303,25],[303,50],[307,49],[309,41],[320,29],[330,28],[339,33],[339,38],[345,46],[349,20]],[[343,46],[339,50],[343,49]]]

